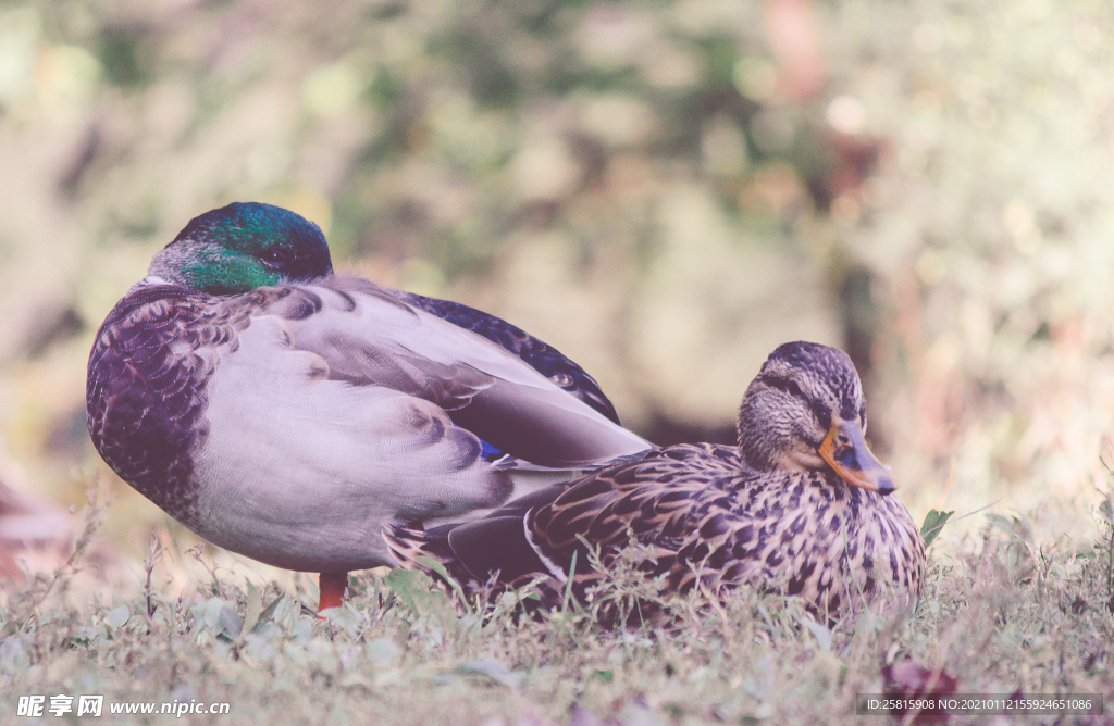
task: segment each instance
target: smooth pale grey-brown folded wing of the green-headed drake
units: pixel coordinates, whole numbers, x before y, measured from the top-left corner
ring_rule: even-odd
[[[330,379],[429,401],[532,464],[587,469],[652,448],[502,345],[368,281],[301,285],[272,312],[293,347],[324,360]]]

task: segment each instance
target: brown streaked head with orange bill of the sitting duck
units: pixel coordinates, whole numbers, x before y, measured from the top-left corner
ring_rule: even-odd
[[[847,353],[785,343],[770,354],[739,409],[739,448],[760,471],[830,469],[880,494],[896,487],[867,447],[862,383]]]

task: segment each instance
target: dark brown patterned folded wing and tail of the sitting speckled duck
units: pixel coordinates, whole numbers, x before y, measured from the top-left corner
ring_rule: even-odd
[[[418,557],[432,557],[480,582],[495,572],[502,582],[529,575],[564,582],[574,562],[577,578],[592,577],[592,550],[607,563],[633,540],[646,548],[643,569],[684,579],[691,563],[729,541],[730,483],[740,472],[737,450],[681,444],[541,489],[472,522],[429,532],[395,527],[385,538],[400,562],[420,567]]]

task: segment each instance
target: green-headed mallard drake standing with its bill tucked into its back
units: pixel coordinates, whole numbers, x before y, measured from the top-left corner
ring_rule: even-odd
[[[264,204],[203,214],[97,333],[89,432],[209,541],[322,573],[391,563],[384,524],[477,516],[651,447],[596,382],[497,317],[332,274]],[[535,484],[537,485],[537,484]]]

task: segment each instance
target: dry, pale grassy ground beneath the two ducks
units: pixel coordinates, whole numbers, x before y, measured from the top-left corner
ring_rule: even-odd
[[[208,581],[172,597],[154,544],[146,577],[98,600],[70,587],[102,513],[91,508],[53,577],[4,593],[3,712],[20,695],[102,694],[106,716],[120,702],[229,704],[186,723],[881,724],[854,715],[856,694],[898,688],[883,669],[907,660],[956,678],[958,693],[1110,695],[1111,511],[1107,499],[1107,532],[1091,547],[1036,542],[1025,517],[990,516],[961,552],[930,550],[915,611],[832,630],[794,599],[709,605],[619,571],[605,596],[662,599],[676,620],[607,630],[592,608],[524,618],[516,593],[461,605],[401,570],[356,573],[349,602],[321,620],[312,588],[243,580],[199,551]]]

